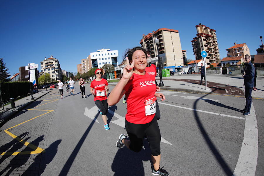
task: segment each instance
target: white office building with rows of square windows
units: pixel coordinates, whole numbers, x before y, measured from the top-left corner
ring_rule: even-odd
[[[118,50],[102,48],[101,50],[97,50],[96,52],[90,54],[92,60],[92,68],[101,68],[104,66],[104,64],[112,64],[114,67],[117,67],[118,65]]]

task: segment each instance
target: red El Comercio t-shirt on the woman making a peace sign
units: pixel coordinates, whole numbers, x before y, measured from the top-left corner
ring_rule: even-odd
[[[126,91],[127,114],[126,120],[130,123],[145,124],[152,121],[154,114],[146,115],[149,101],[156,100],[155,78],[147,73],[145,75],[133,74],[124,87]],[[154,98],[154,99],[153,99]],[[149,105],[150,106],[150,105]]]

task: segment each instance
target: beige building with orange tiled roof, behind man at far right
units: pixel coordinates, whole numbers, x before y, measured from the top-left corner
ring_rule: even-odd
[[[234,46],[226,49],[227,57],[238,57],[242,56],[245,59],[245,55],[250,55],[250,51],[246,43],[236,44]]]

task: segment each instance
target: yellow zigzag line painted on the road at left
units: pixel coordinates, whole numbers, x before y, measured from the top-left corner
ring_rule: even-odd
[[[46,112],[46,113],[44,113],[44,114],[41,114],[41,115],[39,115],[39,116],[36,116],[36,117],[34,117],[34,118],[32,118],[32,119],[29,119],[29,120],[27,120],[27,121],[24,121],[24,122],[22,122],[22,123],[19,123],[18,125],[12,126],[12,127],[8,128],[8,129],[4,130],[4,132],[6,132],[6,133],[7,133],[9,136],[11,136],[12,138],[16,139],[18,142],[21,142],[21,143],[23,143],[24,145],[28,146],[28,147],[31,148],[33,151],[23,151],[23,152],[0,152],[0,155],[28,155],[28,154],[38,154],[38,153],[45,152],[45,150],[44,150],[43,148],[37,147],[37,146],[35,146],[35,145],[33,145],[33,144],[27,142],[27,141],[24,141],[23,139],[17,137],[16,135],[14,135],[13,133],[11,133],[11,132],[8,131],[8,130],[11,129],[11,128],[14,128],[14,127],[19,126],[19,125],[21,125],[21,124],[23,124],[23,123],[26,123],[26,122],[31,121],[31,120],[33,120],[33,119],[36,119],[37,117],[43,116],[43,115],[45,115],[45,114],[48,114],[48,113],[54,111],[54,110],[44,110],[44,109],[28,109],[28,110],[31,110],[31,111],[48,111],[48,112]]]

